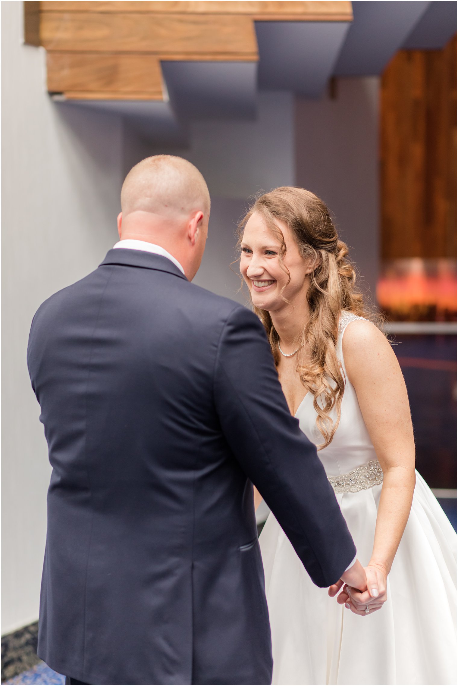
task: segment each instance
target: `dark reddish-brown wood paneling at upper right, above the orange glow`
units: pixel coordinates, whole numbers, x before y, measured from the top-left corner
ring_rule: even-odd
[[[457,38],[401,50],[381,82],[383,259],[456,257]]]

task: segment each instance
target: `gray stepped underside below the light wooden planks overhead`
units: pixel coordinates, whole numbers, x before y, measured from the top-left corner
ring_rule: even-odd
[[[256,22],[259,62],[162,62],[169,102],[86,101],[123,114],[148,139],[186,141],[191,119],[254,119],[258,90],[320,97],[331,76],[378,75],[402,48],[440,49],[454,0],[356,0],[345,22]],[[70,106],[70,104],[67,104]]]

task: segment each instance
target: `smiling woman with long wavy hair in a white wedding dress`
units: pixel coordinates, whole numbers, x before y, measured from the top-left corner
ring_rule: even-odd
[[[456,536],[415,472],[404,379],[355,290],[348,248],[324,202],[294,187],[254,202],[239,246],[291,414],[367,565],[365,593],[315,587],[269,514],[260,544],[273,683],[454,684]]]

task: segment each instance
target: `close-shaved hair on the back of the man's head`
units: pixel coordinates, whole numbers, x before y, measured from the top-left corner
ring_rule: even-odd
[[[154,155],[132,167],[121,189],[123,217],[132,212],[187,215],[202,210],[208,218],[210,195],[200,171],[181,157]]]

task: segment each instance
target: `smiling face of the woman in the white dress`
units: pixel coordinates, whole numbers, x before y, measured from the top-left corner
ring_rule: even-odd
[[[309,263],[300,254],[291,229],[284,222],[276,220],[276,223],[286,246],[282,263],[278,259],[282,250],[280,238],[267,226],[261,215],[254,213],[250,217],[241,241],[241,275],[250,289],[253,305],[269,312],[287,306],[285,299],[291,305],[296,299],[305,299],[311,272]],[[289,283],[285,267],[291,277]]]

